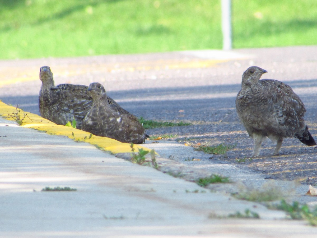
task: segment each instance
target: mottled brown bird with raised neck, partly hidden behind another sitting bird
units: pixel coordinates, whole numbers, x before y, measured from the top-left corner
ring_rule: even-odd
[[[81,129],[82,120],[92,107],[92,97],[85,85],[54,85],[53,73],[49,66],[40,68],[42,86],[39,93],[39,109],[41,116],[59,125],[76,120],[77,129]],[[118,105],[107,98],[110,104]]]

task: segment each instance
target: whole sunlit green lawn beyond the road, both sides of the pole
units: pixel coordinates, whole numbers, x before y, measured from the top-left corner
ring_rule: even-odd
[[[315,0],[232,0],[233,46],[317,44]],[[221,49],[220,0],[0,0],[1,59]]]

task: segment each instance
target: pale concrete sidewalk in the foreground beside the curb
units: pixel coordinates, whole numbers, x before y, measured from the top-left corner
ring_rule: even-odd
[[[3,118],[0,136],[1,237],[316,234],[305,221],[285,220],[284,212],[211,192],[85,142],[23,128]],[[77,191],[41,191],[56,186]],[[246,209],[261,219],[217,218],[244,214]]]

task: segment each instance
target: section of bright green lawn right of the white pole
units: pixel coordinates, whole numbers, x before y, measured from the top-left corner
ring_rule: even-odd
[[[232,0],[235,48],[317,43],[315,0]]]

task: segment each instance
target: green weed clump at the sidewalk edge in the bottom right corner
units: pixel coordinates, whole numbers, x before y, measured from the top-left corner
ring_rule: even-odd
[[[286,211],[291,219],[306,220],[312,226],[317,226],[317,208],[311,211],[307,204],[300,206],[299,202],[293,202],[293,205],[288,204],[285,200],[281,201],[276,209]]]

